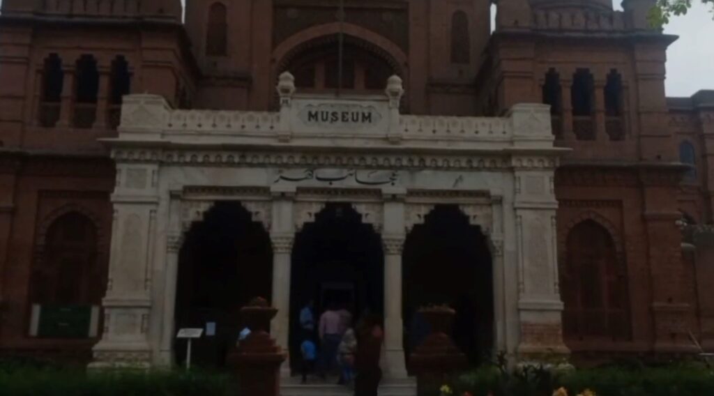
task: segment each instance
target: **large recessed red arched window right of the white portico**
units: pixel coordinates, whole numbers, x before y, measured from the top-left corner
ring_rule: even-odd
[[[560,287],[566,340],[630,339],[627,271],[612,235],[594,220],[570,230]]]

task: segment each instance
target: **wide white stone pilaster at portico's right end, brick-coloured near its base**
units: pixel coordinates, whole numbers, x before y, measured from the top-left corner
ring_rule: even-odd
[[[555,200],[553,178],[558,151],[553,149],[548,106],[518,105],[511,111],[514,146],[528,151],[513,154],[516,183],[513,208],[516,213],[518,264],[518,319],[521,357],[566,354],[558,290]]]

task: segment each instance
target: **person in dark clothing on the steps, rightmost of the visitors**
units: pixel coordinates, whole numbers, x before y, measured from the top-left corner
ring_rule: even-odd
[[[355,396],[377,396],[377,388],[382,380],[379,358],[383,340],[384,332],[379,320],[373,315],[363,316],[357,334]]]

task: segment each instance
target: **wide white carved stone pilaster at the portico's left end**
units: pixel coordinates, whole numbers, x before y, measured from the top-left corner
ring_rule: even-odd
[[[134,108],[127,133],[148,134],[156,118],[166,110],[163,99],[144,99],[134,103],[139,108]],[[134,152],[129,148],[114,151],[112,156],[118,176],[111,197],[114,223],[109,281],[102,300],[104,332],[94,347],[91,366],[149,367],[155,350],[149,335],[151,315],[161,315],[152,299],[154,254],[160,240],[159,155],[156,151]]]

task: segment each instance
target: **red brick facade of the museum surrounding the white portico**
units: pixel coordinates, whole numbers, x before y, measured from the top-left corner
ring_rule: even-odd
[[[115,175],[99,140],[116,136],[121,93],[268,110],[286,70],[304,91],[365,93],[397,73],[414,114],[553,105],[556,143],[573,149],[555,178],[566,344],[605,356],[692,352],[691,334],[714,348],[714,243],[695,226],[714,216],[714,93],[666,98],[675,37],[648,29],[650,0],[625,1],[623,12],[598,0],[503,0],[493,34],[486,0],[346,0],[344,24],[327,1],[188,0],[185,23],[179,0],[147,3],[3,1],[0,355],[90,356],[96,339],[29,336],[32,290],[48,229],[75,212],[96,227],[102,270],[91,282],[106,283]],[[592,235],[601,248],[578,242]],[[523,331],[550,340],[556,330]]]

